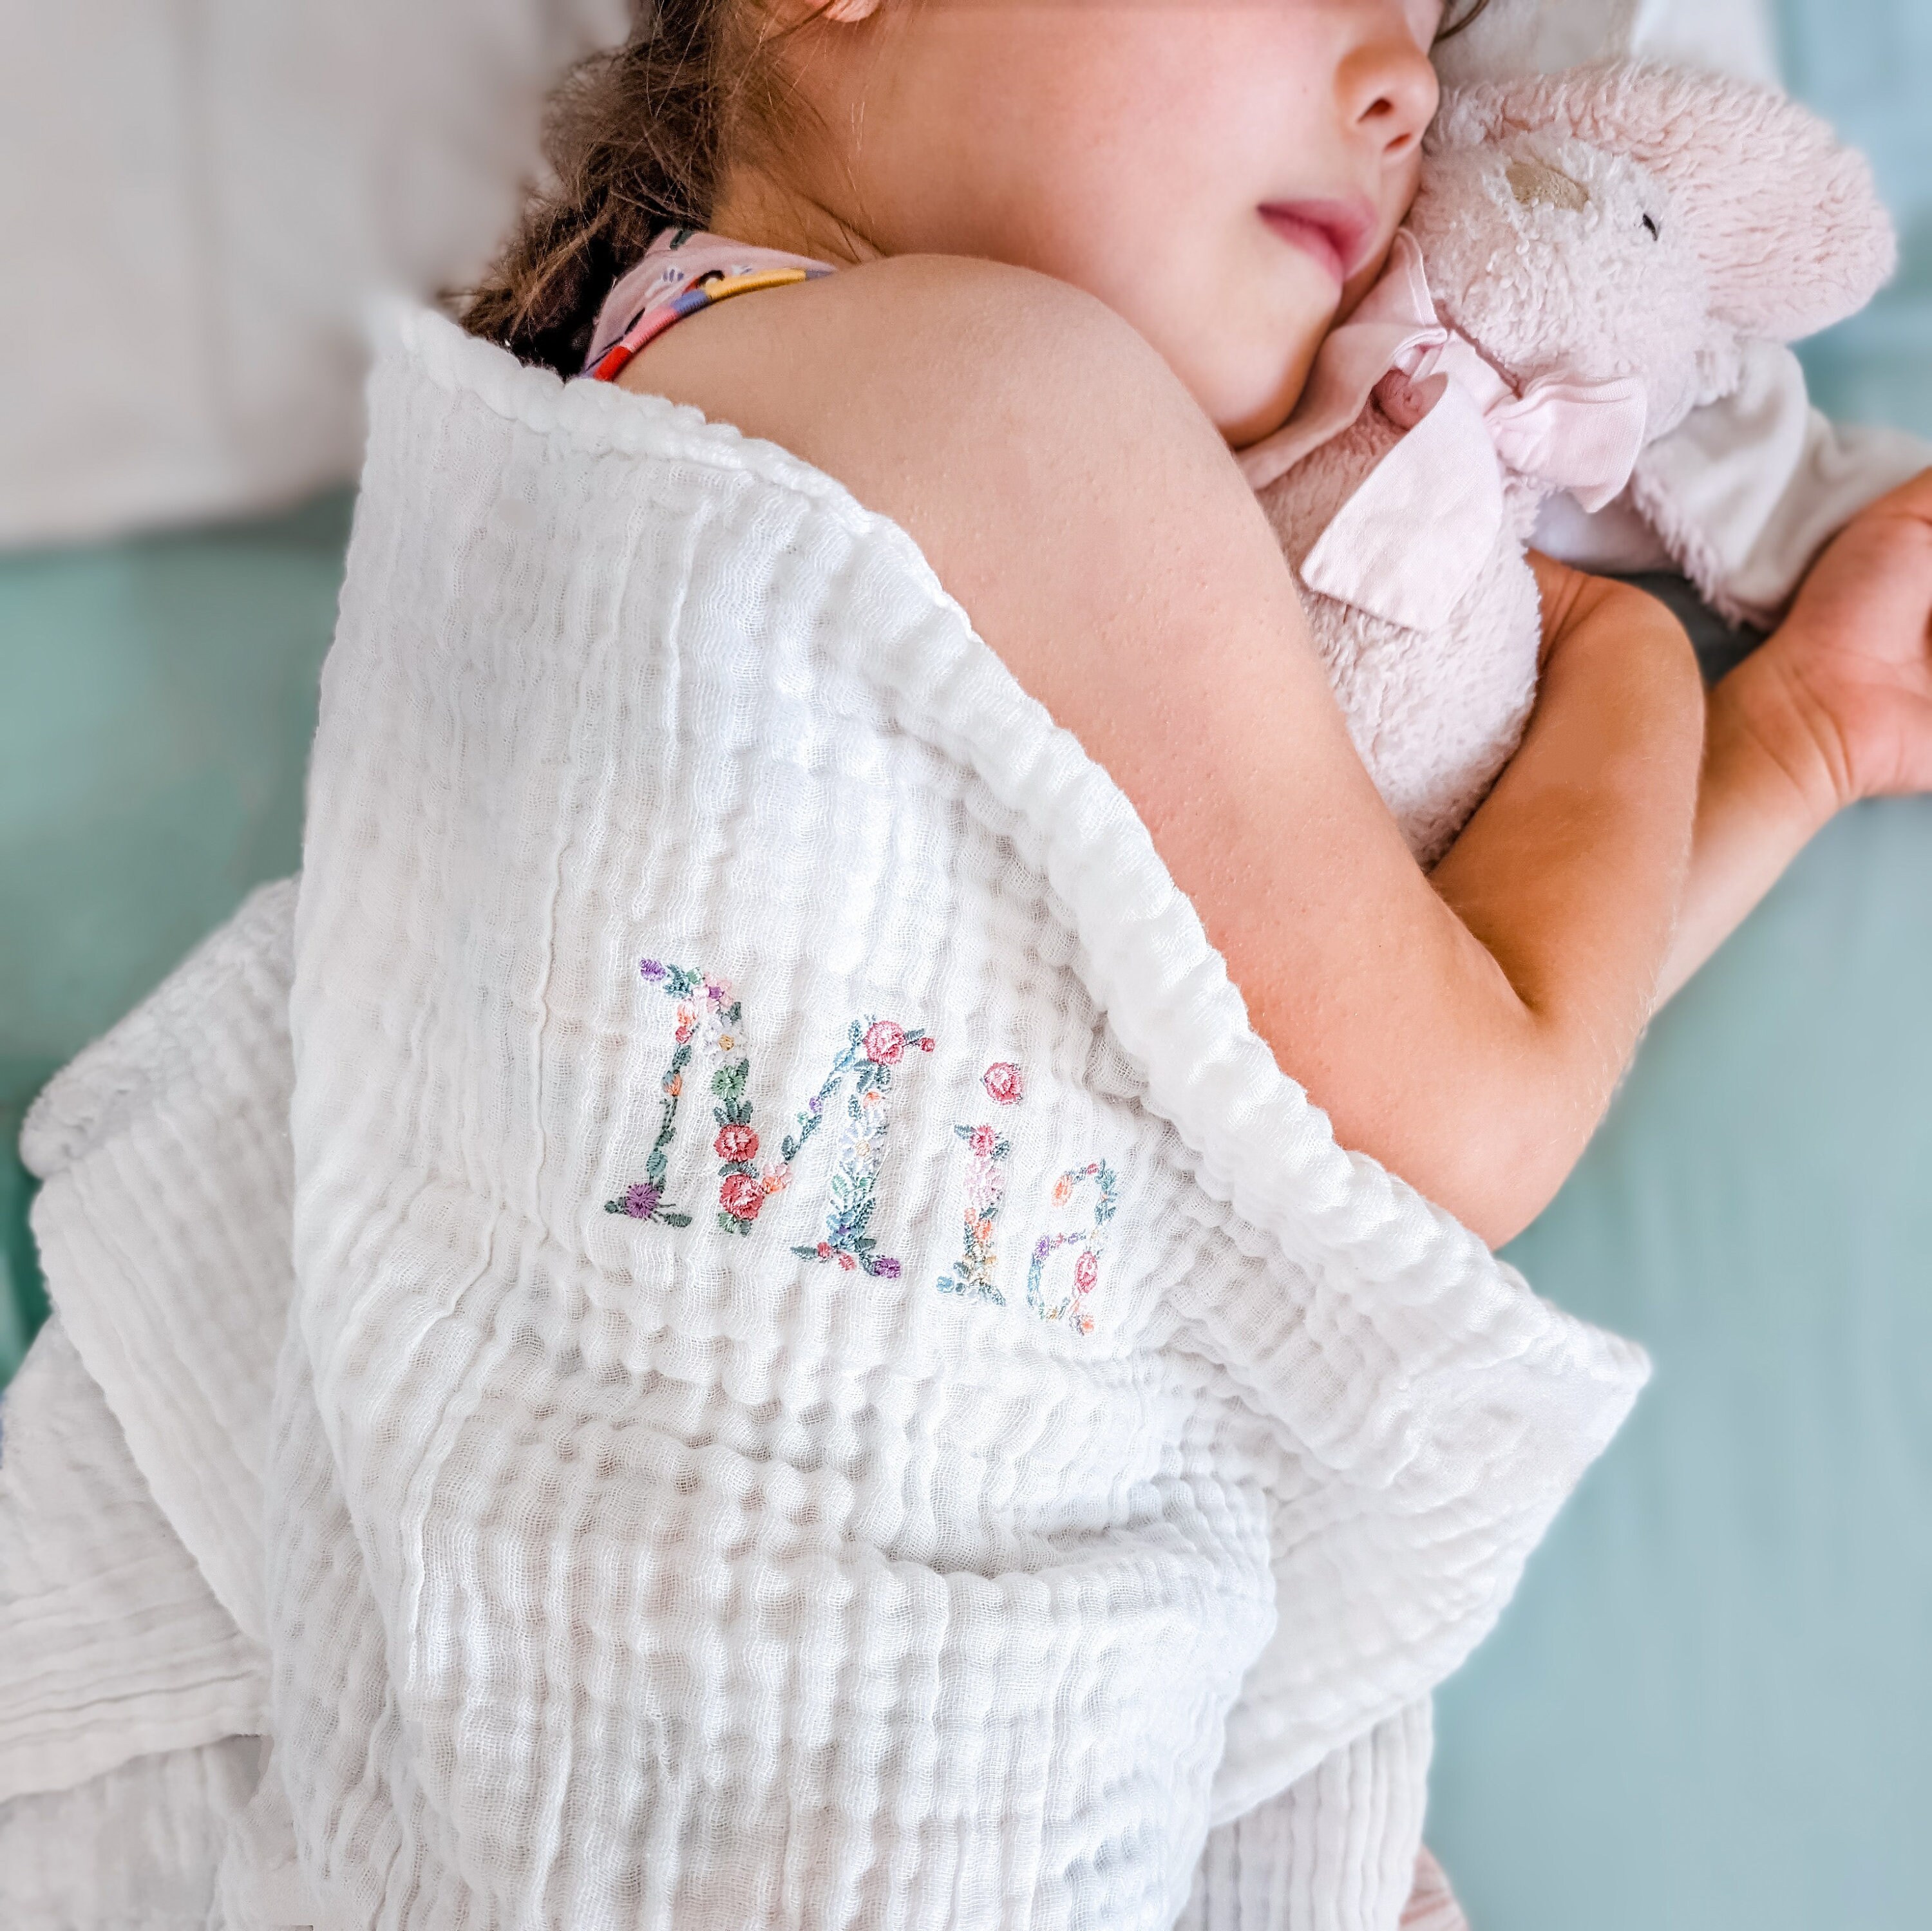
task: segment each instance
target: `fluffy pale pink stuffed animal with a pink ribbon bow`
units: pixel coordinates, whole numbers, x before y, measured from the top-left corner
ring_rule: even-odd
[[[1862,156],[1777,93],[1615,64],[1445,97],[1389,272],[1242,452],[1424,865],[1534,703],[1544,502],[1642,516],[1702,579],[1642,450],[1739,386],[1745,342],[1855,313],[1893,261]]]

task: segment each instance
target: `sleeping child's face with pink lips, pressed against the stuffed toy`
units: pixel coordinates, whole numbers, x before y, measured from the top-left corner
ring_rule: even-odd
[[[1126,317],[1240,448],[1381,266],[1441,0],[835,0],[790,185],[879,255],[980,255]],[[1298,220],[1264,209],[1298,210]]]

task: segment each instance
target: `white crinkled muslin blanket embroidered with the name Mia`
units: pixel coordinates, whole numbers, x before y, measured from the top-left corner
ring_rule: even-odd
[[[160,1029],[251,1226],[166,1224],[230,1180],[174,1126],[102,1172],[99,1068],[27,1145],[269,1661],[220,1921],[1258,1923],[1204,1844],[1296,1794],[1412,1867],[1426,1697],[1646,1363],[1335,1143],[898,525],[400,313],[278,892]],[[267,1286],[170,1429],[126,1334],[197,1244]],[[1393,1923],[1316,1861],[1271,1923]]]

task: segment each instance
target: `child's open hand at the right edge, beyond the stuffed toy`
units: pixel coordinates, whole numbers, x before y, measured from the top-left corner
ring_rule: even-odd
[[[1932,790],[1932,469],[1845,525],[1756,658],[1754,722],[1820,817]]]

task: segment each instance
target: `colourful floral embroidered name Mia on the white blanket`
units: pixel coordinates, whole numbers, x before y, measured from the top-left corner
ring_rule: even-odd
[[[850,1273],[866,1273],[879,1280],[896,1280],[902,1263],[881,1253],[871,1232],[879,1205],[879,1170],[885,1164],[885,1143],[891,1133],[891,1093],[895,1070],[908,1052],[931,1052],[937,1045],[931,1033],[904,1027],[898,1020],[867,1016],[852,1020],[844,1049],[833,1060],[819,1089],[794,1118],[794,1128],[779,1147],[779,1161],[757,1162],[759,1133],[752,1118],[752,1052],[746,1039],[744,1006],[728,979],[694,966],[667,966],[663,960],[643,960],[639,966],[647,985],[659,987],[674,1002],[670,1062],[659,1081],[657,1137],[643,1161],[643,1180],[632,1182],[616,1199],[605,1201],[605,1213],[626,1215],[632,1220],[657,1220],[663,1226],[690,1226],[692,1215],[665,1199],[670,1147],[678,1135],[678,1114],[684,1101],[684,1081],[699,1050],[715,1060],[709,1077],[711,1118],[717,1137],[711,1151],[719,1157],[717,1224],[730,1234],[750,1234],[752,1222],[773,1193],[792,1182],[792,1162],[817,1137],[825,1120],[837,1112],[838,1132],[831,1172],[825,1184],[825,1230],[815,1242],[792,1247],[802,1261],[819,1261]],[[981,1076],[987,1097],[999,1106],[1016,1106],[1026,1095],[1026,1081],[1010,1060],[997,1060]],[[837,1103],[842,1099],[842,1106]],[[941,1274],[941,1294],[1007,1305],[995,1273],[999,1255],[993,1251],[993,1224],[999,1220],[1007,1195],[1005,1166],[1012,1155],[1010,1141],[991,1122],[962,1122],[954,1133],[966,1143],[972,1164],[966,1178],[966,1215],[962,1253],[951,1274]],[[1070,1168],[1055,1188],[1055,1205],[1065,1205],[1076,1182],[1097,1182],[1099,1199],[1094,1218],[1078,1234],[1043,1234],[1034,1244],[1034,1261],[1026,1280],[1026,1301],[1041,1321],[1065,1321],[1080,1334],[1094,1332],[1088,1298],[1099,1278],[1099,1251],[1105,1222],[1117,1205],[1113,1168],[1103,1161]],[[1084,1251],[1074,1263],[1070,1290],[1049,1298],[1041,1286],[1045,1261],[1063,1245],[1078,1244]]]

